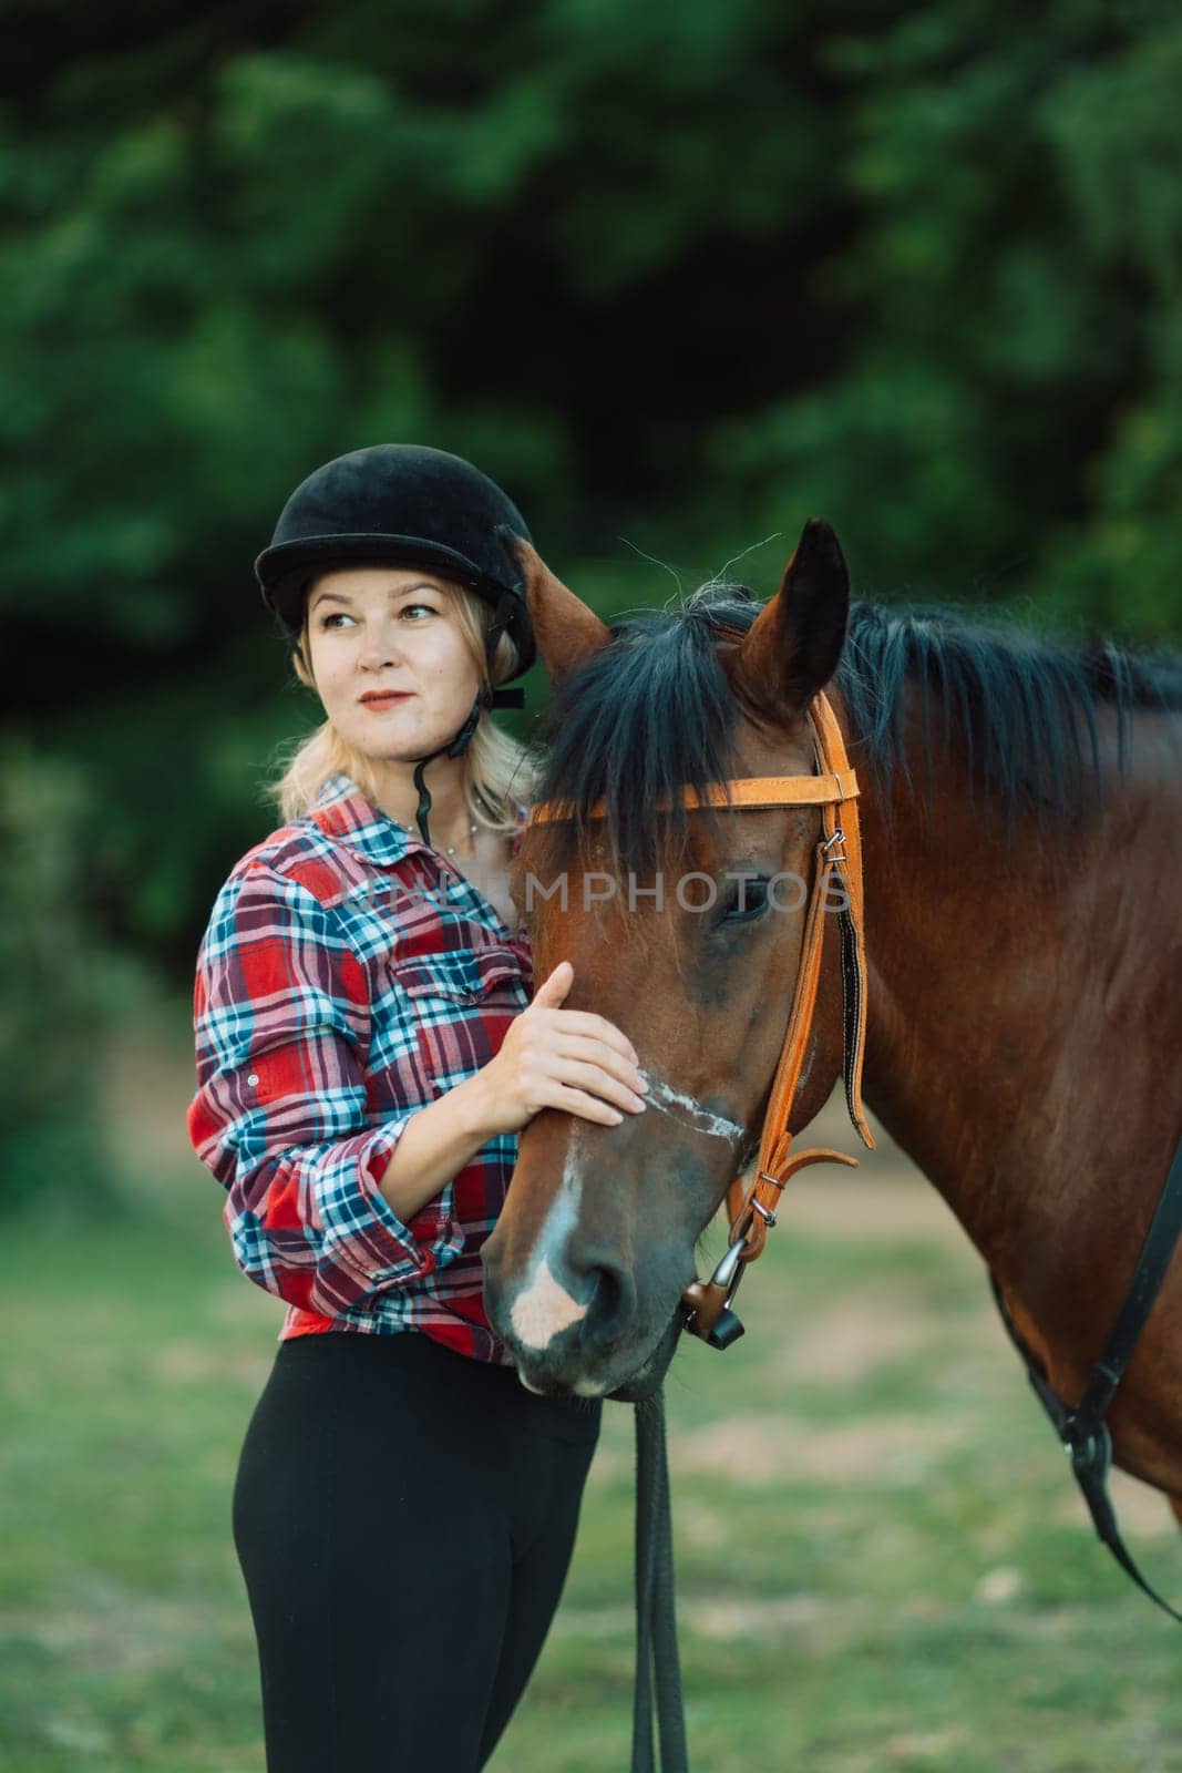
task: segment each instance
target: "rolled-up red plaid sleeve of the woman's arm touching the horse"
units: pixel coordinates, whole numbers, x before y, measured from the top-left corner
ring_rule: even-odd
[[[376,1121],[369,1027],[367,968],[335,911],[266,863],[232,874],[197,957],[190,1140],[227,1190],[243,1273],[323,1316],[413,1284],[463,1248],[452,1183],[409,1225],[379,1191],[425,1105]]]

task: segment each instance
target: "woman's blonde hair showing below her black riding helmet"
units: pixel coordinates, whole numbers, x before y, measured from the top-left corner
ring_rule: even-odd
[[[466,585],[457,585],[454,580],[443,583],[452,596],[459,631],[480,672],[482,684],[487,681],[498,684],[505,677],[512,677],[521,656],[509,635],[500,637],[491,676],[486,677],[484,654],[486,637],[493,626],[493,606],[477,592],[468,590]],[[303,624],[291,661],[299,683],[315,691],[308,663],[312,658],[308,631],[308,598],[305,598]],[[528,805],[539,778],[537,764],[525,745],[502,732],[489,718],[489,711],[482,707],[459,762],[464,801],[471,817],[491,832],[516,832],[516,803]],[[321,722],[308,738],[280,746],[278,766],[280,773],[266,784],[264,793],[278,805],[284,824],[291,824],[292,819],[308,810],[331,775],[351,777],[367,800],[376,801],[381,791],[374,762],[346,745],[331,720]]]

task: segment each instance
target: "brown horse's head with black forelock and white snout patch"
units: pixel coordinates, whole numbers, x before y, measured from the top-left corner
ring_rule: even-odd
[[[649,1092],[620,1126],[542,1110],[523,1129],[486,1305],[530,1388],[643,1395],[672,1358],[696,1239],[758,1149],[820,832],[817,807],[702,791],[813,771],[806,716],[842,656],[849,578],[813,519],[767,603],[709,583],[608,628],[516,546],[553,690],[539,801],[569,817],[526,828],[514,902],[535,977],[572,963],[564,1007],[620,1027]],[[824,966],[792,1131],[842,1069],[833,943]]]

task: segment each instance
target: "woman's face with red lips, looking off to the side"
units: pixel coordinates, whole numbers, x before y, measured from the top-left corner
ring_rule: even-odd
[[[346,745],[411,761],[463,725],[480,674],[448,580],[420,567],[340,567],[314,580],[307,608],[312,676]]]

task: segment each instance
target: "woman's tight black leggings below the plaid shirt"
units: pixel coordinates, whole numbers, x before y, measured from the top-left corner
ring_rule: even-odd
[[[484,1766],[558,1605],[599,1415],[418,1332],[280,1344],[234,1486],[268,1773]]]

